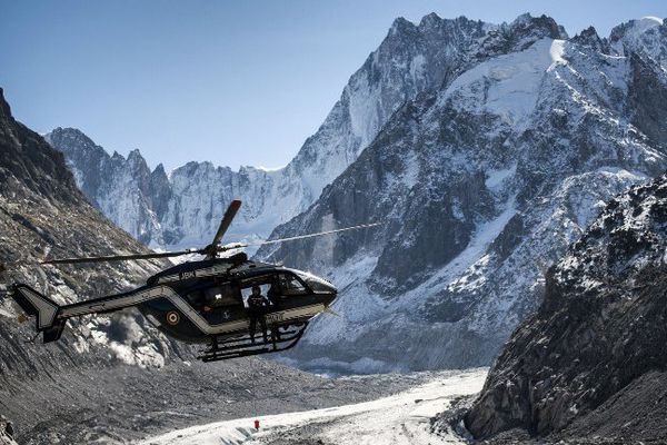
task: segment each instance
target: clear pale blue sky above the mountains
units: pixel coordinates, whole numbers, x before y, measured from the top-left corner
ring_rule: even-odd
[[[600,34],[667,1],[0,0],[0,86],[40,132],[77,127],[149,165],[277,167],[322,122],[392,20],[547,13]]]

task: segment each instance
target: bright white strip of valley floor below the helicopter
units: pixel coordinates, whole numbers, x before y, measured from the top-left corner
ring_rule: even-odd
[[[301,413],[240,418],[178,429],[140,445],[257,445],[287,434],[295,438],[321,439],[325,444],[462,444],[462,439],[431,432],[430,419],[451,400],[479,392],[487,369],[435,373],[428,383],[394,396],[355,405]],[[288,442],[287,442],[288,443]]]

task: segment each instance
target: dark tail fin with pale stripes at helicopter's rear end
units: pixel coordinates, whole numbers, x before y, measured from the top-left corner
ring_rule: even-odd
[[[29,316],[37,317],[37,332],[44,334],[44,343],[56,342],[62,335],[66,319],[58,318],[60,306],[27,285],[12,286],[11,297]]]

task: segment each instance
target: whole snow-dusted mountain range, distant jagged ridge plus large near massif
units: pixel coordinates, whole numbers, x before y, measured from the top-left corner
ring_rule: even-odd
[[[666,36],[656,18],[608,38],[568,38],[545,16],[397,19],[273,171],[190,162],[167,175],[77,130],[48,138],[89,199],[153,246],[207,243],[232,198],[245,200],[236,239],[384,221],[260,250],[341,288],[342,317],[318,319],[291,356],[301,365],[486,365],[609,197],[667,167]]]

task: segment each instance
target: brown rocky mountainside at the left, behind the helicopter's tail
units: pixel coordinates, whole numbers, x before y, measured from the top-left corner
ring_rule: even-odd
[[[163,266],[157,261],[34,265],[47,255],[131,251],[146,251],[146,247],[86,201],[62,154],[12,118],[0,90],[0,258],[9,267],[7,276],[2,275],[2,290],[6,284],[21,281],[60,304],[72,303],[125,290]],[[187,347],[163,337],[137,312],[71,320],[62,339],[49,345],[31,342],[33,322],[20,325],[18,315],[12,300],[0,294],[0,412],[23,433],[27,424],[58,415],[56,406],[67,399],[68,390],[77,390],[59,385],[66,369],[94,375],[123,364],[161,367],[172,357],[191,356]],[[33,386],[31,380],[34,385],[47,382],[40,412],[18,409],[24,406],[22,397]],[[19,389],[21,384],[28,389]]]

